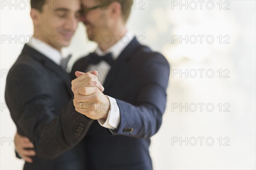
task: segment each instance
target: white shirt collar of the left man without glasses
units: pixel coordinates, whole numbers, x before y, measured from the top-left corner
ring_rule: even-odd
[[[36,40],[35,37],[32,37],[28,45],[34,48],[36,51],[40,52],[41,54],[44,54],[47,58],[51,59],[57,65],[61,64],[61,59],[63,58],[61,52],[53,48],[46,42],[41,42],[41,40]]]

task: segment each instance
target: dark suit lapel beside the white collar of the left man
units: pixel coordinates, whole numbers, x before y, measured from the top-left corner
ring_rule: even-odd
[[[70,75],[66,71],[64,71],[59,65],[53,62],[51,59],[36,51],[34,48],[29,47],[27,44],[24,46],[23,52],[32,54],[31,56],[33,59],[37,60],[38,62],[41,62],[42,66],[49,70],[49,77],[60,77],[64,81],[64,84],[67,88],[67,91],[70,94],[70,97],[73,96],[73,92],[71,90]]]

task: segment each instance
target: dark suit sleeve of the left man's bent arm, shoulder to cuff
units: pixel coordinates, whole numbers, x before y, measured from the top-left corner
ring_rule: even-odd
[[[49,107],[47,79],[36,77],[37,70],[27,65],[18,65],[13,70],[16,74],[8,75],[6,81],[6,103],[17,132],[31,140],[36,154],[54,159],[78,144],[93,120],[76,112],[73,100],[55,115]]]

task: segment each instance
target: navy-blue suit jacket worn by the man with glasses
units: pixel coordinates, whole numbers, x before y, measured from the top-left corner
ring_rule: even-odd
[[[85,71],[88,65],[89,56],[79,59],[71,71],[73,79],[75,71]],[[83,140],[89,169],[152,169],[148,147],[166,108],[169,72],[166,58],[136,39],[122,51],[103,85],[104,94],[117,101],[121,122],[113,134],[93,122]]]

